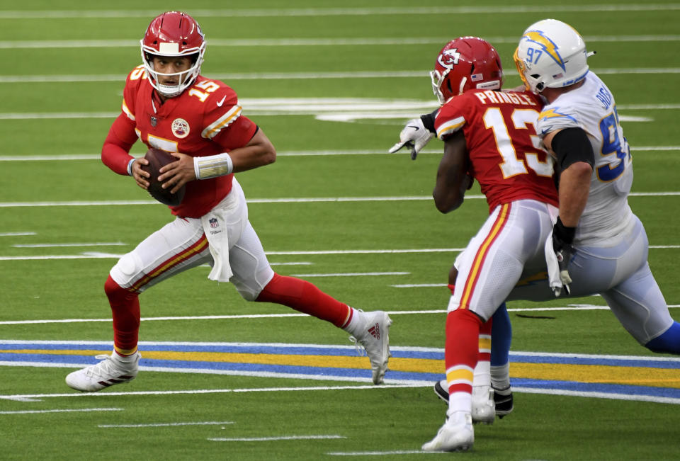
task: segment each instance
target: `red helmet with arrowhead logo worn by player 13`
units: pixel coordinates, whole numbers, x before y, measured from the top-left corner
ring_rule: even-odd
[[[501,58],[486,40],[456,38],[439,52],[430,78],[441,104],[469,89],[498,90],[503,84]]]

